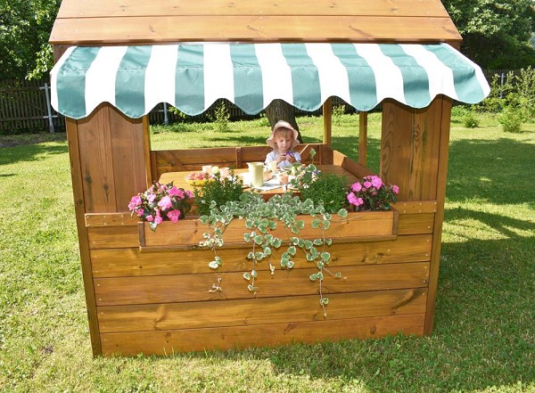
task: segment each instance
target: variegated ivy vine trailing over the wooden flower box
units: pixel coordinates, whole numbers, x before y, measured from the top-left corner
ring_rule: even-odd
[[[347,214],[346,209],[337,212],[341,218],[347,217]],[[300,215],[313,217],[310,226],[317,229],[317,238],[312,240],[300,238],[300,231],[305,228],[305,221],[299,218]],[[332,218],[333,215],[326,211],[322,202],[315,204],[309,199],[300,201],[298,197],[292,197],[289,193],[275,195],[269,201],[264,201],[258,193],[244,192],[239,201],[228,201],[222,206],[217,206],[215,202],[210,204],[210,214],[200,217],[202,224],[208,225],[208,231],[203,233],[204,240],[200,246],[213,250],[214,258],[209,266],[214,270],[218,269],[223,263],[218,256],[218,249],[225,244],[226,227],[235,219],[244,220],[246,231],[243,233],[243,241],[251,244],[251,250],[247,255],[251,260],[251,269],[243,273],[243,278],[247,282],[248,290],[254,294],[259,290],[256,284],[259,263],[267,260],[270,273],[275,274],[276,267],[270,260],[274,249],[285,247],[279,260],[279,265],[283,269],[292,269],[298,252],[302,252],[306,260],[317,267],[317,273],[310,274],[309,279],[318,283],[319,303],[326,316],[325,306],[329,299],[324,296],[322,288],[325,274],[334,278],[342,277],[342,274],[333,274],[326,268],[331,260],[331,254],[326,247],[331,245],[332,240],[327,238],[325,233],[331,225]],[[283,225],[285,228],[284,239],[273,234],[278,225]],[[218,283],[213,284],[210,292],[222,291],[220,284],[219,277]]]

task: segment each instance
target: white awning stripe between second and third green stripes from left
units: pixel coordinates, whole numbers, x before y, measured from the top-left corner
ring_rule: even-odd
[[[175,103],[175,72],[178,45],[153,45],[151,58],[145,70],[145,111],[151,111],[160,102]]]

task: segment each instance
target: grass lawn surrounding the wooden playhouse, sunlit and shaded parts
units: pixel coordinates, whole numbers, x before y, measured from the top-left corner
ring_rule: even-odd
[[[321,140],[321,119],[298,121]],[[152,148],[269,135],[265,120],[229,126],[153,127]],[[374,170],[379,134],[373,114]],[[357,136],[357,116],[334,119],[334,149],[356,158]],[[432,336],[93,358],[64,135],[0,138],[0,391],[535,392],[535,124],[506,134],[490,115],[474,129],[454,118],[450,141]]]

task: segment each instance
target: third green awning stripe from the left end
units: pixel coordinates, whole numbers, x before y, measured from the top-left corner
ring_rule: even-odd
[[[187,115],[204,111],[204,48],[202,45],[179,45],[175,74],[175,102]]]

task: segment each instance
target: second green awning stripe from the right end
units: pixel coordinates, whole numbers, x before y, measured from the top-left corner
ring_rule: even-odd
[[[420,66],[414,57],[407,55],[400,45],[380,44],[379,47],[401,71],[403,94],[407,105],[413,108],[424,108],[429,105],[431,102],[429,77],[424,67]]]

